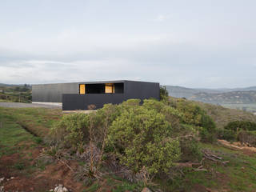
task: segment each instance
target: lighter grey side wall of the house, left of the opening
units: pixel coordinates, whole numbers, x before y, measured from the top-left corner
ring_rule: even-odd
[[[32,85],[32,102],[62,102],[62,94],[78,94],[78,82]]]

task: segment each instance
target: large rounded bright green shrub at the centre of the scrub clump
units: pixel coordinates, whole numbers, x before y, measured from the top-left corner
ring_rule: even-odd
[[[122,111],[110,126],[108,146],[134,172],[143,166],[150,174],[167,172],[181,154],[178,139],[170,138],[171,133],[163,114],[137,106]]]

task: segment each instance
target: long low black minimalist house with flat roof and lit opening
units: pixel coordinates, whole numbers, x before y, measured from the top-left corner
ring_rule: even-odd
[[[158,82],[108,81],[32,85],[32,102],[62,103],[62,110],[88,110],[130,98],[160,98]]]

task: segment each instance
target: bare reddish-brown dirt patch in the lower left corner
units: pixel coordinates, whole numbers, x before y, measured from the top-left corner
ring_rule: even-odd
[[[31,157],[36,158],[40,149],[33,150]],[[28,151],[26,151],[28,152]],[[31,151],[30,151],[31,152]],[[26,162],[34,164],[34,161],[26,161],[26,156],[21,158],[20,154],[3,156],[0,159],[0,177],[6,178],[2,186],[6,191],[49,191],[54,189],[55,185],[63,184],[69,190],[82,191],[85,187],[82,182],[74,181],[74,172],[78,167],[77,162],[66,162],[71,169],[62,162],[52,163],[46,166],[46,170],[36,170],[32,174],[24,174],[22,171],[15,170],[14,164]],[[11,179],[11,177],[14,177]]]

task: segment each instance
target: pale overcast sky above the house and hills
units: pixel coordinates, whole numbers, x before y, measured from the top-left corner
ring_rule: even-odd
[[[256,86],[255,0],[1,0],[0,82]]]

